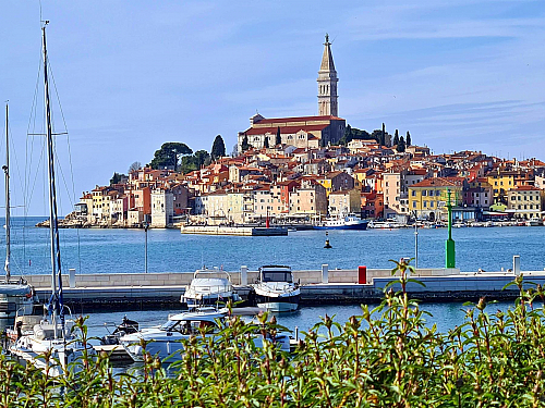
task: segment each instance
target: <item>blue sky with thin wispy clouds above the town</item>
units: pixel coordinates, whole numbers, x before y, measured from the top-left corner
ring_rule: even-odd
[[[27,136],[43,129],[40,18],[55,128],[68,131],[56,136],[60,214],[165,141],[209,151],[220,134],[231,152],[256,111],[317,114],[326,33],[351,126],[384,122],[435,153],[545,160],[541,0],[3,0],[0,18],[15,214],[48,213],[43,137]]]

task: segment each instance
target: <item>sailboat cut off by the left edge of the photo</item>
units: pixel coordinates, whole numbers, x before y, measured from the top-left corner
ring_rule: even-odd
[[[9,108],[5,103],[5,275],[0,281],[0,332],[12,325],[17,311],[29,312],[33,308],[33,287],[23,277],[11,276],[11,234],[10,234],[10,143]]]

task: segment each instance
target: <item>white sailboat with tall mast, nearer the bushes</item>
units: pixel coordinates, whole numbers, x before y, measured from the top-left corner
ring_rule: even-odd
[[[89,344],[83,344],[74,321],[64,317],[62,299],[61,252],[59,245],[59,220],[57,217],[57,191],[55,183],[55,152],[52,140],[51,110],[49,103],[48,59],[46,48],[46,26],[43,32],[45,109],[47,128],[47,161],[49,182],[49,237],[51,249],[51,297],[47,314],[28,334],[20,333],[10,347],[12,355],[41,369],[49,376],[62,375],[69,367],[84,355],[94,354]]]

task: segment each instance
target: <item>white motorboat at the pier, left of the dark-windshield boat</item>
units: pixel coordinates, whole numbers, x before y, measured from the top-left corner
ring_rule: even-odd
[[[233,292],[231,276],[219,269],[199,269],[195,271],[193,281],[181,297],[181,302],[194,308],[204,305],[239,301],[241,297]]]

